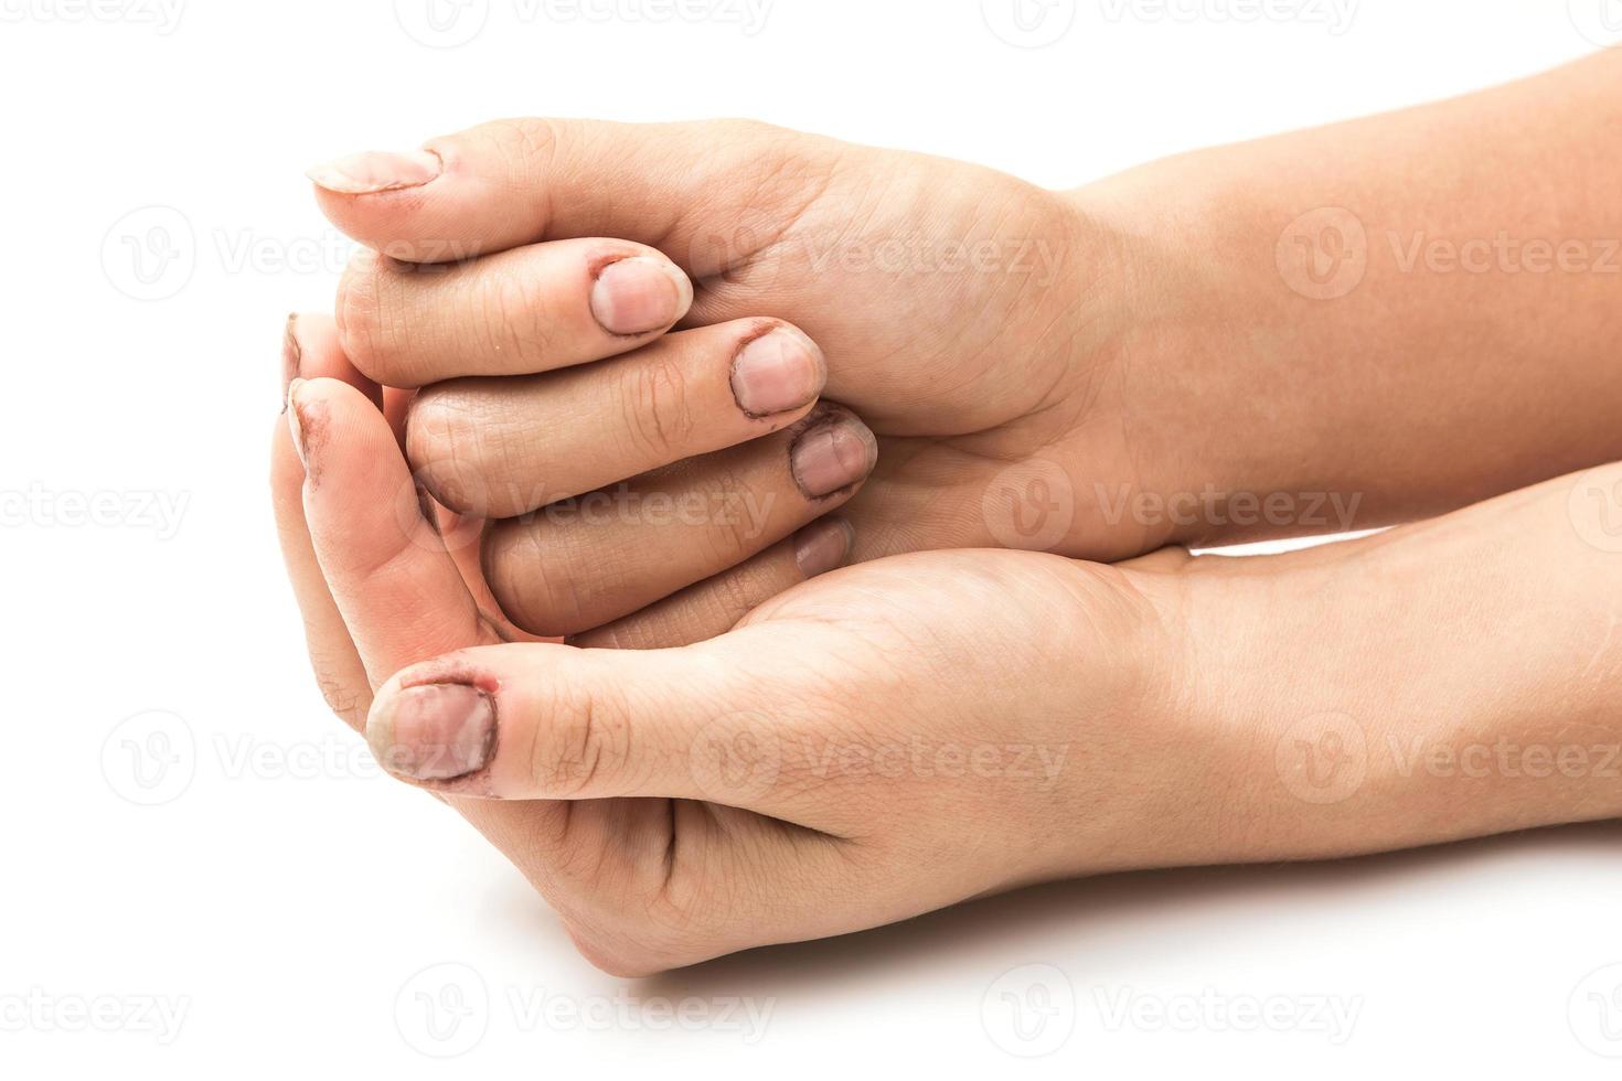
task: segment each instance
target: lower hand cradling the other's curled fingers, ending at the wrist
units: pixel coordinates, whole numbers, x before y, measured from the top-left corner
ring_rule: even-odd
[[[1176,652],[1155,601],[1121,570],[916,554],[788,592],[706,645],[498,645],[417,517],[376,405],[316,378],[294,386],[289,417],[277,515],[329,700],[358,724],[373,687],[438,656],[404,679],[454,686],[373,708],[380,758],[451,778],[495,747],[491,768],[438,794],[607,969],[647,972],[1083,865],[1155,862],[1156,835],[1176,830],[1169,814],[1145,814],[1165,762],[1140,758],[1150,742],[1137,724],[1161,711],[1174,682],[1156,658]],[[401,527],[414,519],[418,528]],[[641,619],[649,639],[693,632]],[[449,710],[441,721],[466,720],[485,694],[504,726],[495,742],[410,741],[423,702]],[[738,762],[751,741],[761,757]],[[1184,794],[1165,791],[1168,812]],[[1069,820],[1087,827],[1054,830]]]

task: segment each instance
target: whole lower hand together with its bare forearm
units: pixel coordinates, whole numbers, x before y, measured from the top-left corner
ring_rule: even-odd
[[[404,464],[380,472],[391,436],[362,395],[323,379],[294,410],[326,572],[320,593],[303,579],[307,611],[354,635],[357,703],[406,664],[368,742],[613,972],[1048,878],[1622,814],[1603,692],[1622,564],[1585,541],[1604,509],[1573,499],[1622,468],[1273,559],[886,559],[701,645],[574,650],[491,643],[449,558],[401,546],[401,507],[365,493]],[[1530,640],[1494,634],[1536,611]],[[1560,770],[1429,765],[1505,741]]]

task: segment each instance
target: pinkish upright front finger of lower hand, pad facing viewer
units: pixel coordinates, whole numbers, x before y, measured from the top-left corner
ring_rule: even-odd
[[[498,640],[425,519],[383,413],[337,379],[297,379],[287,420],[311,546],[370,682]]]

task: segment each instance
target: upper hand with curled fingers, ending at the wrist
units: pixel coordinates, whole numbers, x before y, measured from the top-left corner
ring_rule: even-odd
[[[878,472],[845,507],[858,559],[1020,543],[1007,499],[1040,480],[1041,462],[1077,480],[1137,483],[1109,353],[1113,240],[1066,196],[980,167],[733,122],[500,122],[311,175],[328,216],[388,256],[367,253],[345,274],[344,352],[381,384],[433,384],[410,412],[412,465],[451,509],[508,519],[485,545],[485,567],[526,630],[599,626],[826,509],[805,486],[816,506],[801,507],[785,483],[806,476],[783,468],[785,439],[707,454],[751,429],[744,413],[764,412],[740,412],[727,392],[728,365],[761,314],[795,327],[782,340],[814,342],[827,358],[824,399],[879,433]],[[603,235],[629,240],[594,238]],[[694,282],[680,303],[667,295],[655,316],[621,329],[657,334],[676,318],[688,329],[618,355],[646,339],[605,335],[587,303],[607,253],[634,256],[650,292],[668,292],[681,272]],[[863,436],[850,428],[827,483],[871,462],[856,454]],[[555,502],[688,455],[699,457],[680,476],[694,489],[782,496],[795,514],[722,535],[587,523]],[[759,489],[751,470],[775,486]],[[616,498],[641,501],[668,483],[639,476]],[[1032,540],[1127,556],[1163,536],[1083,511]],[[642,574],[647,562],[668,574]],[[620,582],[603,580],[605,564]]]

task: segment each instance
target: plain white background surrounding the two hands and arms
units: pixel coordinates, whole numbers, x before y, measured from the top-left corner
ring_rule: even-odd
[[[1059,885],[605,977],[326,713],[264,493],[282,318],[329,306],[347,251],[315,160],[498,115],[753,115],[1072,186],[1552,66],[1594,47],[1599,0],[1337,0],[1340,32],[1330,0],[1058,0],[1012,42],[1012,0],[775,0],[756,32],[741,0],[470,0],[453,49],[402,29],[425,0],[92,2],[0,0],[0,1075],[1617,1076],[1614,825]],[[425,1028],[457,993],[461,1026]],[[712,1024],[654,1031],[660,997]],[[719,1023],[732,1000],[764,1031]],[[73,1031],[86,1003],[112,1031]],[[1281,1031],[1225,1018],[1247,1003]]]

